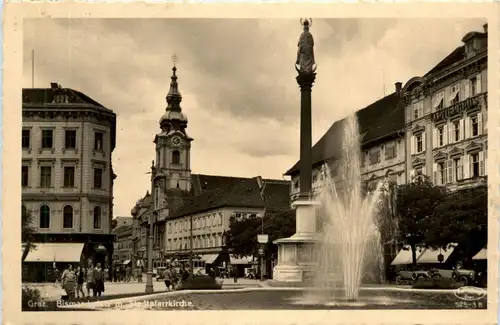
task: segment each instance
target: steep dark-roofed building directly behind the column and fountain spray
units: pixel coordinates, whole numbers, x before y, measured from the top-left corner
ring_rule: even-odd
[[[404,105],[401,100],[402,84],[395,84],[395,92],[356,112],[361,142],[361,177],[376,183],[390,179],[404,184],[405,177],[405,124]],[[326,163],[335,181],[340,180],[338,170],[344,159],[342,141],[345,119],[336,121],[312,148],[313,194],[321,186],[319,173]],[[299,194],[300,161],[285,175],[290,176],[292,201]]]

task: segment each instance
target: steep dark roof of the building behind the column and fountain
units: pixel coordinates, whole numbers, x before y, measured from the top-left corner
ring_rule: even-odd
[[[377,100],[373,104],[356,112],[359,132],[362,135],[362,147],[382,141],[404,129],[404,107],[400,105],[400,96],[396,92]],[[342,157],[341,141],[343,137],[343,122],[336,121],[312,148],[313,166],[318,166],[327,160],[337,160]],[[285,175],[295,175],[300,171],[300,161],[290,168]]]

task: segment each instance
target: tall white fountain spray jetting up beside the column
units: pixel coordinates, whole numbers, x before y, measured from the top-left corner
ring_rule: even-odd
[[[320,173],[323,229],[316,245],[315,288],[324,297],[358,299],[364,274],[382,265],[377,209],[381,187],[363,194],[360,136],[355,115],[343,121],[342,159],[334,181],[328,165]],[[314,290],[318,293],[318,290]],[[333,296],[333,297],[332,297]]]

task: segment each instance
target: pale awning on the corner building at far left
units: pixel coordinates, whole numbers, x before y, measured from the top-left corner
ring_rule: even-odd
[[[80,262],[81,243],[35,243],[25,262]]]

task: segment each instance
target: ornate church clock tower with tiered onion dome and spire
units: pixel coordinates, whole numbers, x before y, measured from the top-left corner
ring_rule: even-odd
[[[182,96],[177,83],[174,63],[167,108],[160,119],[161,132],[155,137],[158,203],[169,190],[191,190],[191,141],[186,133],[188,119],[182,113]]]

